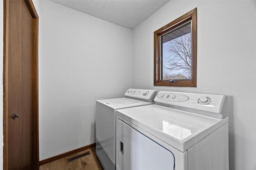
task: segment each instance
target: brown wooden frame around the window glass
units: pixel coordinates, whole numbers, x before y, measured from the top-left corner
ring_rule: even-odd
[[[160,57],[160,38],[168,31],[191,20],[191,43],[192,43],[192,79],[189,80],[161,80],[160,70],[161,62],[158,63]],[[196,63],[197,63],[197,8],[177,18],[176,20],[164,25],[160,29],[154,31],[154,86],[178,86],[178,87],[196,87]]]

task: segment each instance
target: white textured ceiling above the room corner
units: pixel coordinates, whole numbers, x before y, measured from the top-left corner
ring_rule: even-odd
[[[51,0],[126,28],[137,25],[170,0]]]

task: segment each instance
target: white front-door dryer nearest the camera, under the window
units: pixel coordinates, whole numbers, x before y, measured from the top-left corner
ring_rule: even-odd
[[[160,91],[116,113],[117,170],[228,170],[226,97]]]

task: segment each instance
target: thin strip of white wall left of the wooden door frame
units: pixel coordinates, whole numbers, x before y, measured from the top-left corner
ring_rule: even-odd
[[[4,3],[0,0],[0,169],[3,167],[3,50],[4,50]]]

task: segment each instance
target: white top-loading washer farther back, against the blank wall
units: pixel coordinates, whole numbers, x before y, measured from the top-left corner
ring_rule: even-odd
[[[96,100],[96,155],[105,170],[116,170],[116,111],[154,104],[156,90],[128,89],[124,98]]]

